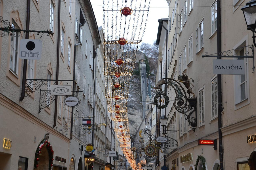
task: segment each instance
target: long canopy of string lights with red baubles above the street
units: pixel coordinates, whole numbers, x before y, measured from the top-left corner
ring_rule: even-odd
[[[136,168],[127,116],[129,82],[138,43],[145,33],[150,0],[104,0],[103,39],[105,97],[121,150]]]

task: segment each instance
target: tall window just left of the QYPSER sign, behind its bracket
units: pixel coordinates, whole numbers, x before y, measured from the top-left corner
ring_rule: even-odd
[[[13,21],[14,22],[14,21]],[[14,27],[14,25],[12,24]],[[18,33],[16,33],[18,34]],[[15,36],[16,34],[12,34],[11,36],[11,53],[10,53],[10,70],[16,76],[18,75],[18,62],[19,62],[19,36]]]

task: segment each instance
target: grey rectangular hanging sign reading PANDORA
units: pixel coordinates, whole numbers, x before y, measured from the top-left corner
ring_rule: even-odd
[[[244,60],[213,60],[213,74],[244,75]]]

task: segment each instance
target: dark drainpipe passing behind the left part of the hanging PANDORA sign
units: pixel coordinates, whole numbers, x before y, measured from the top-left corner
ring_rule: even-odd
[[[218,55],[221,55],[221,9],[220,9],[221,0],[217,0],[217,52]],[[217,59],[221,59],[218,57]],[[218,128],[219,128],[219,155],[220,155],[220,169],[223,170],[223,144],[222,144],[222,87],[221,87],[221,74],[217,75],[218,81]]]

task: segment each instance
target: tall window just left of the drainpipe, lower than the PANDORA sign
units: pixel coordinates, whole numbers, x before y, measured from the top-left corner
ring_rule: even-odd
[[[211,99],[212,99],[212,118],[218,115],[217,105],[218,105],[218,91],[217,91],[217,77],[215,77],[211,82]]]

